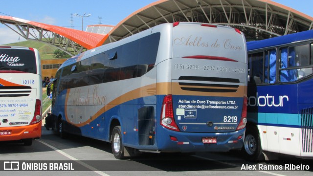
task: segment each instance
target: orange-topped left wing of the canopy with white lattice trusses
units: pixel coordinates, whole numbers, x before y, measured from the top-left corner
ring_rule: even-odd
[[[37,40],[55,45],[70,55],[100,46],[105,35],[31,22],[15,17],[0,16],[0,22],[27,40]],[[9,24],[14,25],[13,29]]]

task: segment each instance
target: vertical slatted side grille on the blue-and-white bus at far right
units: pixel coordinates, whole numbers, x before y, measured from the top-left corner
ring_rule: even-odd
[[[302,152],[313,153],[313,108],[301,110]]]

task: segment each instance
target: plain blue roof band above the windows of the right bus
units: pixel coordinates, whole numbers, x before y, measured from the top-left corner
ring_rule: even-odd
[[[313,30],[298,32],[280,37],[274,37],[261,41],[251,41],[246,43],[247,50],[255,50],[260,48],[266,48],[271,46],[278,46],[282,44],[290,44],[293,42],[305,41],[313,39]]]

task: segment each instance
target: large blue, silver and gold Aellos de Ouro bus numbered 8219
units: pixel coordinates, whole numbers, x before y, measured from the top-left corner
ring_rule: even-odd
[[[241,149],[246,40],[203,23],[160,24],[68,59],[57,71],[52,115],[65,132],[135,152]]]

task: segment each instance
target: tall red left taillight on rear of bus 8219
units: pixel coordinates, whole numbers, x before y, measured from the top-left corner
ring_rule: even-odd
[[[163,99],[160,123],[169,130],[179,132],[179,128],[174,120],[172,95],[166,95]]]

